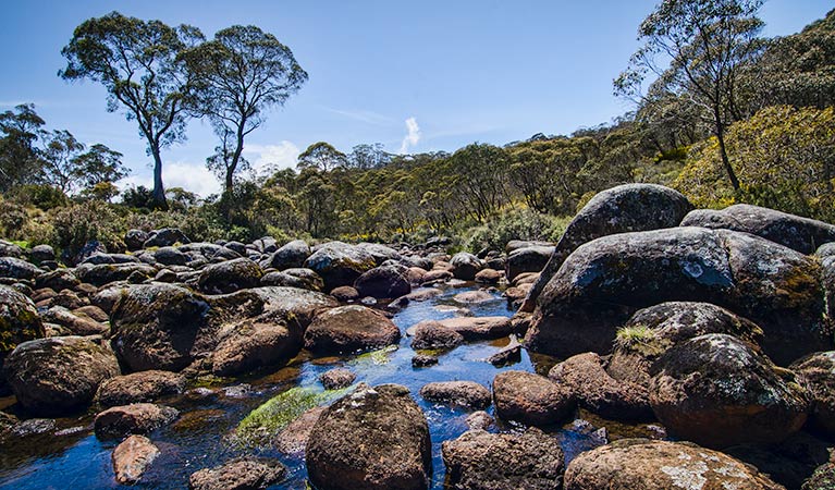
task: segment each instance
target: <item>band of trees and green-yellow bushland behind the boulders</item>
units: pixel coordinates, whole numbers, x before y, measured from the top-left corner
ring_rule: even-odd
[[[752,203],[835,221],[835,11],[765,39],[760,5],[662,2],[614,84],[636,110],[610,124],[453,154],[391,155],[379,144],[343,152],[319,142],[295,170],[258,177],[243,172],[244,138],[307,79],[288,48],[254,26],[206,40],[191,26],[91,19],[62,51],[61,76],[101,83],[109,110],[137,122],[155,188],[120,196],[118,151],[47,131],[33,106],[20,106],[0,114],[0,236],[72,253],[88,240],[119,249],[127,229],[167,225],[207,241],[447,233],[477,250],[554,240],[597,192],[628,182],[672,185],[704,207]],[[219,139],[207,166],[223,193],[206,199],[161,181],[161,151],[185,138],[193,117]]]

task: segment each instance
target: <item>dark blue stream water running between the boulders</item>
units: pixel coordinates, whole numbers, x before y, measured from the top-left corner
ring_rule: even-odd
[[[393,321],[404,335],[398,347],[392,352],[322,359],[312,359],[303,353],[291,365],[274,372],[212,385],[220,390],[225,385],[247,383],[251,391],[243,397],[221,395],[206,403],[189,402],[184,397],[160,401],[180,409],[181,418],[175,424],[149,434],[151,441],[160,449],[161,455],[136,487],[185,488],[189,475],[198,469],[220,465],[235,456],[256,454],[278,457],[290,468],[287,479],[273,488],[305,489],[306,473],[300,457],[288,457],[271,449],[242,448],[230,434],[244,417],[272,396],[294,387],[321,390],[319,375],[335,367],[346,367],[357,375],[357,381],[369,384],[400,383],[409,388],[429,421],[433,455],[432,488],[443,488],[441,443],[457,438],[467,430],[464,420],[469,412],[428,403],[418,395],[419,389],[431,381],[450,380],[469,380],[490,387],[495,375],[502,370],[518,369],[544,375],[555,363],[555,359],[540,356],[531,359],[523,351],[520,363],[498,369],[484,359],[509,341],[501,339],[462,345],[440,354],[440,362],[435,366],[413,368],[412,357],[415,352],[409,347],[410,339],[405,335],[405,331],[418,321],[451,318],[463,314],[507,317],[513,315],[499,292],[493,292],[493,301],[478,305],[459,305],[454,302],[455,294],[472,289],[471,285],[461,289],[447,286],[442,295],[426,302],[413,302],[397,313]],[[492,407],[488,412],[492,414]],[[58,430],[72,429],[70,434],[58,436],[56,431],[50,431],[0,445],[0,489],[119,488],[113,479],[110,462],[110,454],[119,441],[99,441],[90,427],[94,416],[95,414],[85,414],[75,418],[59,419]],[[560,439],[567,460],[593,445],[594,437],[590,436],[590,432],[599,427],[605,426],[612,439],[619,436],[649,434],[646,426],[624,426],[595,419],[585,413],[578,414],[578,417],[590,420],[590,424],[574,422],[550,429]],[[500,424],[492,430],[513,431],[520,428]]]

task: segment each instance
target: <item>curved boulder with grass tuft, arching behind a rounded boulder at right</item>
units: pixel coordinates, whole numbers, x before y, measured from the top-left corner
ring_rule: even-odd
[[[707,333],[727,333],[752,347],[762,342],[760,327],[725,308],[710,303],[667,302],[638,310],[618,329],[606,371],[619,381],[649,387],[650,367],[662,354]]]

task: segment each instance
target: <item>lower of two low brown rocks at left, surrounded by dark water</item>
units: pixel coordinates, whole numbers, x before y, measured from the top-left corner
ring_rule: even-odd
[[[130,433],[148,433],[171,424],[180,415],[175,408],[152,403],[113,406],[96,416],[94,428],[99,439]]]

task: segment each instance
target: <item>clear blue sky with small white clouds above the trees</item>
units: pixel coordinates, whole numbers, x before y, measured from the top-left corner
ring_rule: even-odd
[[[86,19],[118,10],[191,24],[205,35],[255,24],[294,52],[310,78],[246,143],[258,169],[292,167],[326,140],[343,151],[382,143],[389,151],[453,151],[535,133],[567,134],[629,110],[612,78],[638,46],[656,0],[586,1],[156,1],[0,0],[0,111],[34,102],[49,128],[124,154],[127,184],[150,184],[150,158],[134,123],[106,111],[105,89],[65,83],[61,48]],[[791,34],[833,8],[824,0],[771,0],[765,35]],[[167,186],[219,189],[204,162],[209,126],[165,150]]]

